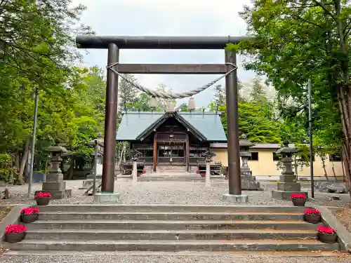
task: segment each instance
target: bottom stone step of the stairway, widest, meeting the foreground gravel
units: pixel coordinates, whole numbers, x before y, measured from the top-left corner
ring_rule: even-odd
[[[256,240],[256,241],[221,241],[221,240],[187,240],[187,241],[166,241],[166,240],[35,240],[25,239],[19,243],[4,243],[4,248],[10,250],[90,250],[90,251],[334,251],[339,250],[338,243],[325,244],[320,241],[277,241],[277,240]]]

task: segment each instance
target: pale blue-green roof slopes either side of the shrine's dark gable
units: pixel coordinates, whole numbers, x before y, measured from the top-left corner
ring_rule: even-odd
[[[166,116],[165,112],[127,112],[123,114],[117,131],[117,140],[138,140]],[[210,142],[226,142],[220,114],[215,112],[176,112],[176,119]],[[153,129],[152,129],[153,130]]]

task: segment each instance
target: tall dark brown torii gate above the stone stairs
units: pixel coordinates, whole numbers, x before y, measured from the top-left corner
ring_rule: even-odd
[[[219,65],[119,64],[119,50],[123,48],[213,50],[224,49],[227,43],[239,43],[239,41],[244,39],[251,39],[251,37],[77,36],[76,43],[78,48],[108,49],[105,102],[105,148],[102,163],[102,192],[114,192],[114,158],[116,151],[119,74],[225,74],[229,194],[223,194],[223,200],[248,201],[247,196],[241,195],[236,54],[230,53],[229,50],[225,50],[225,64]]]

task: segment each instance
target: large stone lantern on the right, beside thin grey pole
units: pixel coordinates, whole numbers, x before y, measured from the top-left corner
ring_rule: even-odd
[[[272,190],[272,197],[276,199],[290,200],[291,194],[305,194],[301,191],[301,184],[296,182],[296,175],[293,172],[293,159],[291,156],[297,152],[295,147],[289,147],[289,141],[283,142],[283,147],[276,151],[276,154],[282,156],[283,170],[280,175],[280,182],[277,183],[277,190]]]

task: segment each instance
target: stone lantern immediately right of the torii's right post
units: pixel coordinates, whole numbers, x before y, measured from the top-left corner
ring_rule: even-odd
[[[256,177],[252,176],[252,171],[249,168],[249,158],[251,157],[250,147],[254,144],[247,139],[246,135],[241,135],[239,141],[240,156],[241,156],[241,189],[243,190],[260,190],[260,183],[256,182]]]

